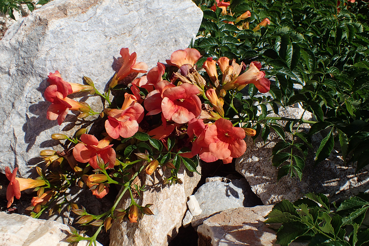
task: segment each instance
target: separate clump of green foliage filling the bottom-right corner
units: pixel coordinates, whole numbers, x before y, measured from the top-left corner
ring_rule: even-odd
[[[282,223],[276,242],[282,246],[294,240],[307,240],[309,246],[367,245],[369,229],[363,219],[368,208],[367,193],[343,201],[338,208],[325,195],[309,193],[296,202],[276,204],[265,223]]]

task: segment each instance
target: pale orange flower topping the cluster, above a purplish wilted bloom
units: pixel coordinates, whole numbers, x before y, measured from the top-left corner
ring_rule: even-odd
[[[166,60],[166,63],[178,68],[185,64],[190,64],[194,66],[197,60],[200,59],[200,57],[200,52],[197,51],[197,49],[179,49],[173,52],[172,55],[170,55],[170,60]]]

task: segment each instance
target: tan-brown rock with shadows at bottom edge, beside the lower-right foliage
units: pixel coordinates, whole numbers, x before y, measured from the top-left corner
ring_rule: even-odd
[[[216,214],[197,228],[199,246],[273,246],[276,245],[275,231],[264,224],[264,217],[273,206],[227,209]],[[290,246],[303,246],[295,243]],[[277,245],[276,245],[277,246]]]

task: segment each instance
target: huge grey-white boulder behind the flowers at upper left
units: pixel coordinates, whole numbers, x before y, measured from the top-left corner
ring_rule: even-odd
[[[201,19],[191,0],[54,0],[11,25],[0,41],[0,171],[24,175],[40,149],[57,145],[52,133],[74,126],[70,113],[61,126],[46,120],[49,72],[75,83],[86,75],[103,91],[121,48],[151,68],[187,48]],[[85,100],[101,109],[100,98]]]

